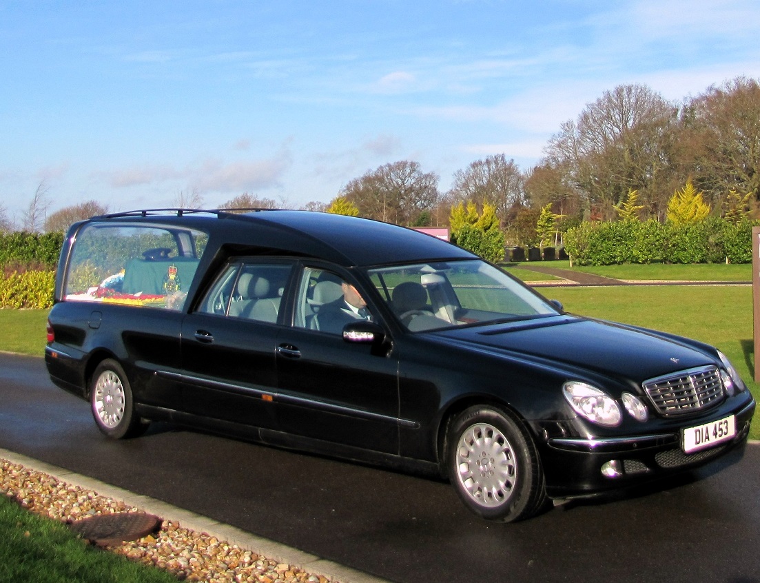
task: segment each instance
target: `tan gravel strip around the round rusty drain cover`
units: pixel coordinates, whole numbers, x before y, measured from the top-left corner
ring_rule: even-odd
[[[0,459],[0,491],[30,512],[68,523],[90,516],[141,512],[119,500],[4,459]],[[182,528],[176,521],[163,521],[154,534],[106,548],[186,581],[329,583],[322,575],[309,574],[209,534]]]

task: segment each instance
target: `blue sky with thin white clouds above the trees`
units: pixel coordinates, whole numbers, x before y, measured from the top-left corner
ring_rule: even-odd
[[[298,207],[414,160],[534,165],[604,90],[760,77],[757,0],[0,0],[0,207]]]

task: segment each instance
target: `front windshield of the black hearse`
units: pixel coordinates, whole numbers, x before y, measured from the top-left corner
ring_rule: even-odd
[[[368,274],[410,331],[558,313],[546,300],[480,259],[396,265],[371,269]]]

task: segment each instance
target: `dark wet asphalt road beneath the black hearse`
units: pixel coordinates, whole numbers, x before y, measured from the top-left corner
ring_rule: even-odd
[[[163,423],[110,441],[42,359],[0,354],[0,448],[391,581],[760,583],[760,444],[656,488],[492,524],[420,477]]]

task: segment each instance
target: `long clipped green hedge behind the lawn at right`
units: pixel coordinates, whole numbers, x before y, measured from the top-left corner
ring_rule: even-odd
[[[752,227],[719,218],[676,225],[648,220],[581,223],[565,234],[565,251],[575,265],[620,263],[749,263]]]

